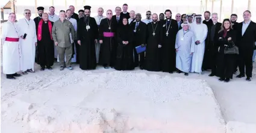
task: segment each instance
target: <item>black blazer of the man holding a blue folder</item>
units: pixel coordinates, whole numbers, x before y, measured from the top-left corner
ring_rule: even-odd
[[[131,23],[131,29],[135,30],[136,21]],[[146,23],[140,21],[139,26],[137,26],[136,32],[134,33],[134,46],[140,46],[146,43]]]

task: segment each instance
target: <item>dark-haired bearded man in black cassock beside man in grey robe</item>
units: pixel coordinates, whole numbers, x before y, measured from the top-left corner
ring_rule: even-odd
[[[161,48],[161,67],[163,72],[172,73],[175,71],[175,40],[178,32],[177,21],[172,18],[172,11],[166,10],[164,12],[166,20],[162,27],[163,43]]]

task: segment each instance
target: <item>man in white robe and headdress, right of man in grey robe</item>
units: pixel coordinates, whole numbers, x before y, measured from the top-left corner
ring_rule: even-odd
[[[192,24],[191,31],[195,35],[195,52],[192,56],[190,72],[202,72],[202,61],[204,60],[205,38],[207,37],[208,28],[202,23],[202,16],[196,15]]]

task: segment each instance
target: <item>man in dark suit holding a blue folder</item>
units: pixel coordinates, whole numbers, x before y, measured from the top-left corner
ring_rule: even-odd
[[[134,29],[134,48],[137,46],[145,47],[146,44],[146,23],[142,22],[142,15],[140,13],[136,14],[136,22],[131,24],[131,28]],[[137,53],[134,49],[134,67],[140,66],[143,69],[143,63],[145,61],[145,52]]]

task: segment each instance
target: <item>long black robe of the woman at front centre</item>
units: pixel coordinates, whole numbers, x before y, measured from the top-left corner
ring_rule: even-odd
[[[117,52],[116,64],[117,70],[131,70],[134,69],[133,61],[133,30],[127,25],[119,26],[116,34]],[[123,44],[122,41],[128,41],[128,44]]]

